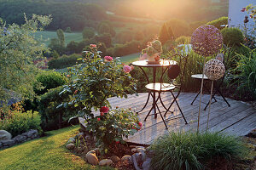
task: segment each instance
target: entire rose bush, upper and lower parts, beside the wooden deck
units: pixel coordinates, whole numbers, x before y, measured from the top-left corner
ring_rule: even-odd
[[[137,123],[134,113],[108,109],[109,97],[126,98],[127,94],[136,93],[136,80],[131,77],[130,66],[122,65],[119,59],[110,56],[102,58],[95,44],[90,44],[90,51],[83,54],[82,63],[68,69],[68,84],[60,95],[69,94],[70,100],[59,107],[72,105],[78,109],[78,115],[84,116],[88,130],[96,135],[97,144],[107,147],[137,131],[130,126]],[[92,110],[99,109],[100,116],[94,116]],[[120,116],[124,120],[119,119]]]

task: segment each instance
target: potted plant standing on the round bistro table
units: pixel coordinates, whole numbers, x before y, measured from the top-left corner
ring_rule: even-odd
[[[161,42],[154,40],[153,42],[148,42],[148,48],[143,49],[142,54],[147,55],[148,63],[159,63],[162,51]]]

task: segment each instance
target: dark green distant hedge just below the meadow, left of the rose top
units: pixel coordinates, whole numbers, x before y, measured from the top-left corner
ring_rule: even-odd
[[[69,66],[76,65],[77,62],[80,62],[80,61],[78,61],[79,58],[81,58],[81,56],[79,54],[63,55],[63,56],[59,57],[58,59],[50,59],[48,62],[48,67],[49,67],[49,69],[67,68]]]

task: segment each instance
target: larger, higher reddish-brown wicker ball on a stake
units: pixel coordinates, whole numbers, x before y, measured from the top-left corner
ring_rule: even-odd
[[[218,52],[222,47],[223,37],[215,26],[200,26],[193,32],[191,44],[195,53],[207,57]]]

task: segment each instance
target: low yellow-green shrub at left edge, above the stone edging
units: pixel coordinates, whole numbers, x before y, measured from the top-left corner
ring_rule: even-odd
[[[3,121],[0,121],[0,129],[8,131],[13,137],[30,129],[37,129],[41,133],[40,123],[41,119],[37,111],[9,111]]]

